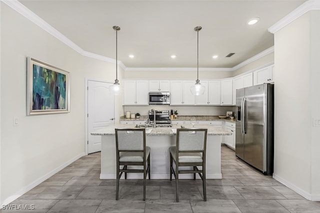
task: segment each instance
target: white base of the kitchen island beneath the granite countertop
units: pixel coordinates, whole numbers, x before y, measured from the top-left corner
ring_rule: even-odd
[[[221,130],[221,129],[218,129]],[[152,130],[153,131],[153,130]],[[158,132],[160,133],[160,132]],[[226,133],[226,132],[225,132]],[[221,132],[220,132],[221,134]],[[101,135],[101,173],[100,179],[116,178],[115,136]],[[222,133],[224,135],[224,132]],[[169,179],[169,147],[174,146],[176,135],[146,135],[146,145],[150,150],[150,178]],[[221,135],[207,135],[206,178],[221,179]],[[182,167],[183,168],[183,167]],[[186,167],[187,168],[187,167]],[[121,177],[124,178],[124,175]],[[127,178],[142,179],[142,173],[128,173]],[[179,174],[181,179],[191,179],[193,174]],[[196,175],[196,178],[200,178]]]

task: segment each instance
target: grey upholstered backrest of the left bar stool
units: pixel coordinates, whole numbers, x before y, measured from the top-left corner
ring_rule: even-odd
[[[118,151],[143,151],[145,149],[144,128],[115,128]]]

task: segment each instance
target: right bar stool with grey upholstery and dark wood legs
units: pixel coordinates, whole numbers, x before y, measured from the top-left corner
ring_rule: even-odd
[[[170,151],[170,180],[172,174],[175,178],[176,201],[179,201],[179,173],[198,173],[202,179],[203,200],[206,201],[205,188],[205,148],[206,128],[177,128],[176,145],[169,148]],[[174,161],[174,163],[173,163]],[[175,165],[175,170],[173,168]],[[179,166],[192,166],[192,170],[179,170]],[[199,169],[197,166],[202,166]]]

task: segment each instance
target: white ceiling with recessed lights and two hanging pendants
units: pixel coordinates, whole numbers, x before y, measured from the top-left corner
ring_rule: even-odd
[[[112,26],[120,26],[117,59],[126,67],[196,67],[195,26],[202,26],[199,67],[233,67],[273,46],[268,27],[304,1],[20,0],[83,50],[109,58],[115,59]],[[253,17],[260,20],[248,25]]]

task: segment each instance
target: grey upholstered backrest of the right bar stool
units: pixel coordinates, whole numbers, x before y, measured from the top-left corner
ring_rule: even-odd
[[[178,151],[199,151],[205,150],[206,128],[177,128],[176,147]]]

